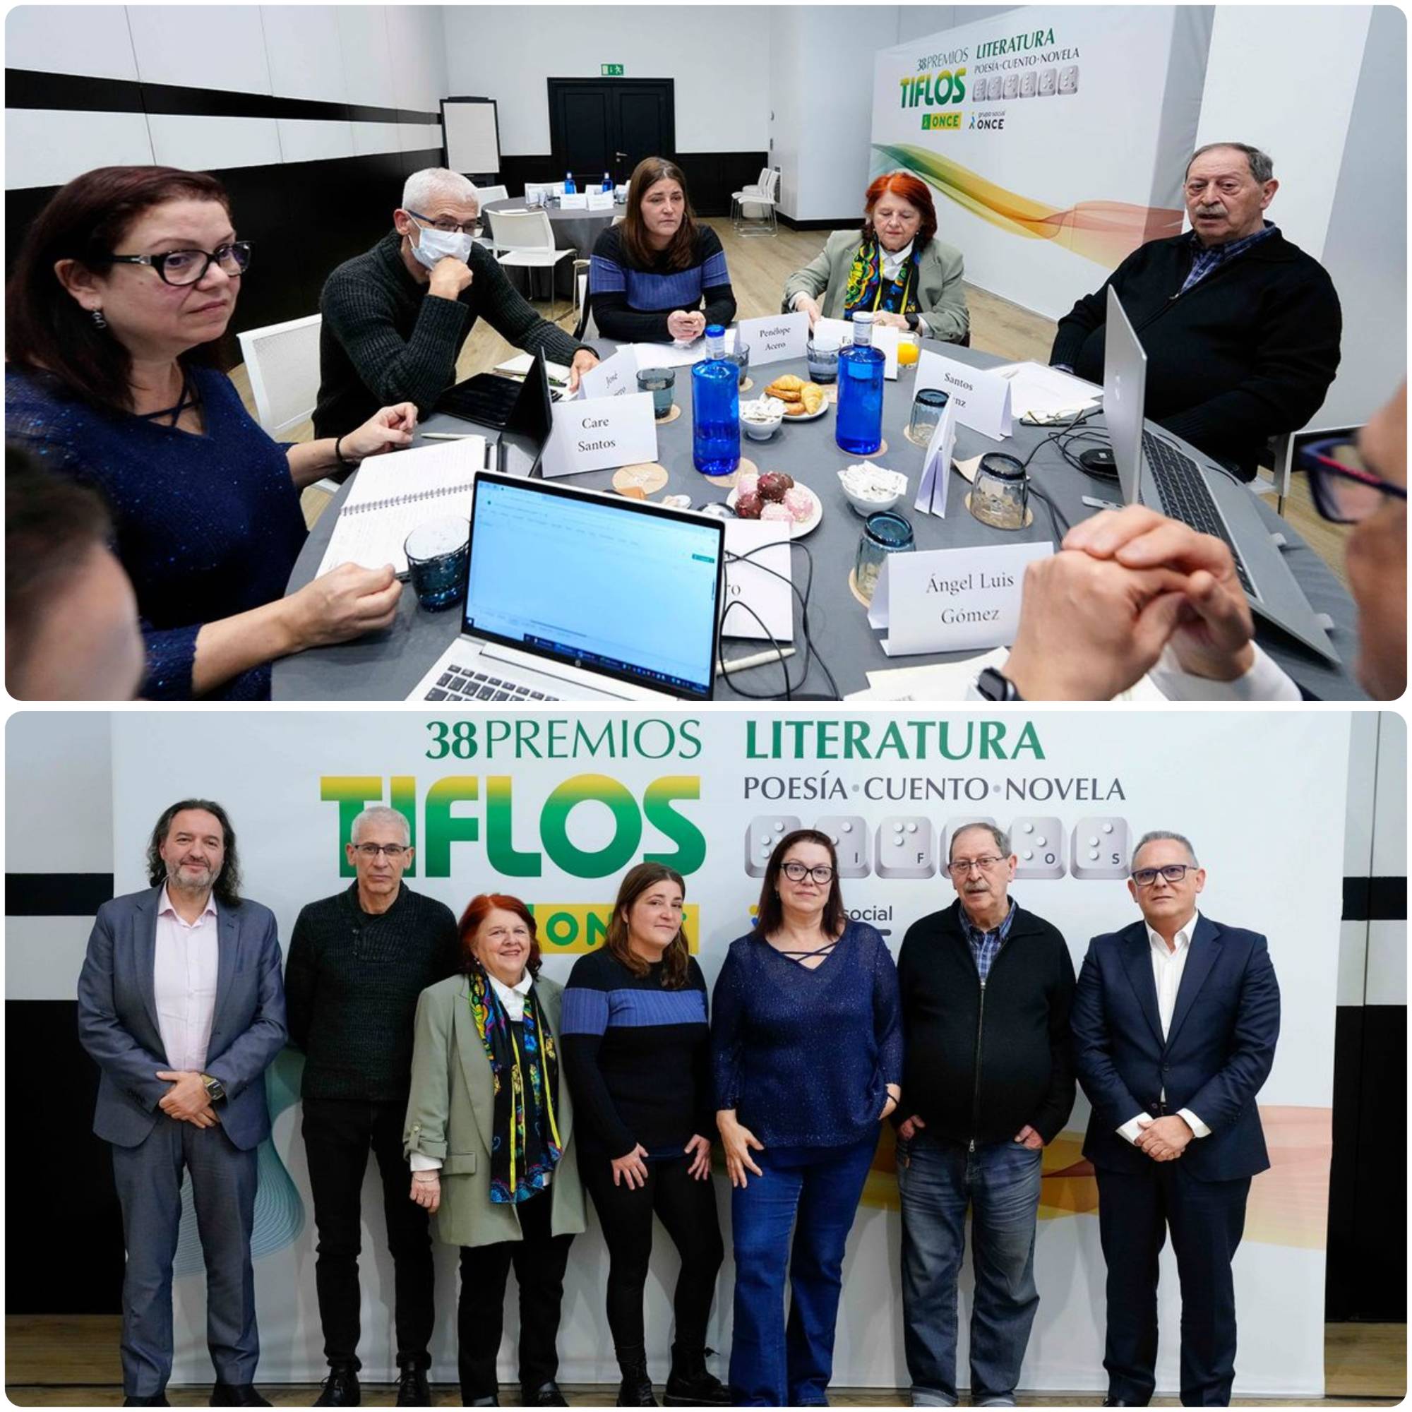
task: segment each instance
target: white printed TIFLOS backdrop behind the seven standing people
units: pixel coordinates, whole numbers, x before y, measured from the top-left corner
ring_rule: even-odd
[[[748,925],[758,881],[748,875],[747,830],[753,820],[774,825],[791,816],[813,823],[854,816],[854,836],[891,836],[892,816],[912,816],[936,837],[929,849],[931,875],[880,875],[870,857],[866,875],[846,882],[850,909],[875,919],[899,943],[916,916],[945,905],[950,887],[936,875],[947,820],[984,810],[1003,825],[1024,815],[1058,825],[1067,840],[1086,820],[1107,816],[1132,833],[1147,827],[1189,829],[1211,870],[1203,908],[1219,919],[1257,926],[1271,938],[1284,991],[1284,1035],[1275,1070],[1261,1093],[1275,1168],[1255,1183],[1247,1240],[1237,1258],[1241,1306],[1238,1389],[1315,1395],[1322,1389],[1323,1236],[1329,1158],[1329,1104],[1333,997],[1337,964],[1340,874],[1329,857],[1343,856],[1341,820],[1347,777],[1350,717],[1346,714],[1128,714],[1107,717],[1101,730],[1091,714],[1035,717],[1038,748],[1015,754],[1019,722],[1005,723],[1005,747],[981,754],[980,736],[952,714],[926,717],[922,750],[918,727],[901,734],[878,758],[854,751],[840,758],[842,727],[825,738],[812,730],[792,734],[772,751],[770,716],[716,713],[710,720],[658,717],[637,736],[641,717],[627,720],[627,750],[606,754],[604,717],[583,717],[587,737],[575,736],[568,717],[559,758],[535,758],[521,738],[518,754],[507,746],[514,726],[484,717],[470,758],[428,760],[433,733],[414,713],[323,716],[319,713],[229,713],[220,717],[220,748],[212,750],[212,723],[182,716],[124,713],[113,720],[114,885],[143,885],[141,836],[172,796],[208,792],[230,808],[241,830],[246,875],[253,897],[274,907],[288,936],[302,902],[345,885],[339,871],[337,798],[347,809],[361,798],[381,798],[395,788],[408,803],[421,847],[424,875],[412,882],[452,907],[470,892],[496,885],[518,891],[537,905],[549,935],[546,966],[563,979],[572,946],[559,945],[583,925],[580,908],[602,911],[628,854],[597,864],[573,858],[580,850],[609,846],[614,837],[607,809],[597,799],[623,794],[626,844],[642,853],[676,854],[688,871],[688,901],[699,907],[695,931],[702,964],[713,977],[726,943]],[[541,722],[548,717],[538,717]],[[856,717],[843,717],[856,719]],[[899,716],[899,722],[912,717]],[[888,717],[866,720],[871,753],[878,754]],[[939,753],[940,729],[947,754]],[[25,727],[32,736],[32,727]],[[861,727],[854,727],[861,729]],[[754,730],[754,736],[750,731]],[[794,730],[791,724],[789,730]],[[617,740],[623,740],[621,727]],[[496,738],[500,733],[501,738]],[[827,747],[827,740],[834,746]],[[860,737],[861,738],[861,737]],[[994,738],[994,737],[993,737]],[[538,737],[548,754],[549,737]],[[1162,747],[1155,748],[1154,743]],[[17,737],[11,723],[11,760]],[[795,748],[798,744],[798,748]],[[491,748],[493,747],[493,748]],[[432,747],[433,750],[436,747]],[[1041,758],[1042,753],[1042,758]],[[469,751],[467,751],[469,754]],[[918,758],[919,755],[919,758]],[[1001,755],[1015,758],[1001,758]],[[192,762],[199,761],[199,767]],[[1179,770],[1172,768],[1180,761]],[[586,775],[594,778],[585,779]],[[491,777],[508,781],[491,789]],[[432,808],[438,781],[466,802]],[[393,781],[395,779],[395,786]],[[834,781],[839,781],[836,785]],[[24,770],[11,775],[23,786]],[[658,782],[654,785],[654,782]],[[791,794],[842,799],[796,799]],[[782,794],[779,799],[762,795]],[[973,798],[967,798],[967,794]],[[1060,794],[1063,801],[1060,802]],[[357,796],[357,798],[354,798]],[[481,802],[481,801],[487,802]],[[1258,799],[1258,809],[1251,801]],[[651,808],[648,802],[651,801]],[[984,801],[984,802],[981,802]],[[640,813],[638,802],[642,812]],[[1309,829],[1308,819],[1336,820]],[[460,820],[460,822],[456,822]],[[633,830],[641,825],[641,837]],[[504,829],[505,833],[500,833]],[[460,842],[448,842],[459,834]],[[534,877],[497,875],[497,853],[508,837],[515,849],[539,856]],[[565,842],[566,840],[566,842]],[[623,837],[617,839],[624,843]],[[438,858],[438,854],[441,857]],[[503,861],[503,857],[501,857]],[[1015,884],[1021,901],[1049,916],[1069,936],[1075,960],[1087,938],[1134,919],[1121,881],[1031,877]],[[582,933],[580,933],[582,935]],[[311,1380],[319,1372],[318,1316],[313,1302],[312,1233],[298,1138],[297,1058],[282,1056],[271,1072],[277,1110],[274,1141],[264,1154],[261,1216],[257,1231],[257,1298],[261,1310],[261,1377]],[[1045,1209],[1036,1275],[1042,1303],[1027,1358],[1028,1388],[1103,1385],[1103,1262],[1091,1209],[1091,1179],[1059,1175],[1077,1158],[1086,1113],[1083,1103],[1069,1130],[1046,1154]],[[844,1308],[840,1320],[836,1381],[840,1385],[897,1387],[904,1381],[895,1284],[895,1186],[884,1137],[849,1245]],[[381,1251],[381,1216],[376,1185],[364,1193],[364,1346],[369,1377],[384,1375],[393,1348],[385,1302],[391,1271]],[[724,1192],[719,1193],[726,1213]],[[669,1327],[666,1295],[674,1255],[661,1247],[650,1284],[650,1341],[661,1372]],[[453,1375],[450,1310],[453,1261],[442,1251],[438,1308],[443,1310],[435,1354],[436,1377]],[[191,1234],[178,1261],[178,1378],[209,1378],[203,1348],[202,1278]],[[566,1381],[607,1381],[610,1340],[603,1319],[606,1257],[596,1228],[579,1240],[570,1267],[561,1336]],[[723,1271],[713,1315],[712,1344],[729,1348],[731,1269]],[[969,1292],[969,1276],[963,1284]],[[1176,1281],[1162,1284],[1165,1343],[1159,1385],[1176,1385]],[[969,1298],[969,1293],[966,1295]],[[964,1299],[963,1299],[964,1305]],[[513,1336],[510,1320],[507,1348]],[[964,1351],[964,1336],[963,1336]],[[513,1374],[508,1358],[503,1364]]]

